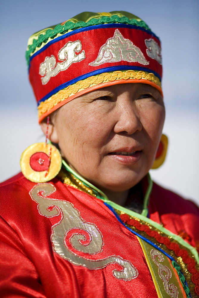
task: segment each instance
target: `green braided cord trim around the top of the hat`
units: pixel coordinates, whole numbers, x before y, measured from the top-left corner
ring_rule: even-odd
[[[119,17],[118,15],[112,15],[111,17],[108,16],[101,16],[100,18],[92,18],[88,22],[79,21],[77,23],[73,23],[71,21],[66,22],[63,25],[58,24],[54,29],[48,29],[45,34],[40,34],[38,39],[33,39],[31,45],[28,46],[26,51],[26,60],[27,64],[29,65],[30,55],[35,52],[37,47],[40,47],[42,43],[47,43],[49,38],[55,38],[57,34],[65,34],[69,30],[76,30],[78,28],[84,28],[93,25],[101,25],[101,24],[128,24],[128,25],[135,25],[139,27],[143,27],[147,30],[150,28],[144,21],[137,21],[135,19],[129,20],[129,18],[123,16]]]

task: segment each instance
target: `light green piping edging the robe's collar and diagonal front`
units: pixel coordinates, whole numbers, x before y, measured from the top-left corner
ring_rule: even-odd
[[[71,167],[69,167],[69,165],[64,160],[62,160],[62,163],[63,163],[63,165],[64,165],[64,167],[66,168],[67,171],[69,171],[71,174],[73,174],[77,179],[81,180],[83,182],[83,184],[85,184],[85,186],[90,187],[94,191],[94,193],[96,193],[96,197],[97,198],[101,199],[102,201],[104,201],[105,203],[107,203],[108,205],[110,205],[111,207],[113,207],[114,209],[117,209],[117,210],[119,210],[121,212],[124,212],[124,213],[126,213],[126,214],[128,214],[130,216],[135,217],[135,218],[139,218],[142,221],[145,221],[148,224],[150,224],[151,226],[155,227],[159,231],[163,232],[167,236],[172,237],[174,240],[176,240],[182,246],[184,246],[187,249],[189,249],[192,252],[192,254],[194,255],[196,261],[199,263],[199,256],[198,256],[198,252],[195,249],[195,247],[191,246],[183,238],[181,238],[180,236],[172,233],[171,231],[169,231],[168,229],[164,228],[160,224],[156,223],[152,219],[147,218],[149,198],[150,198],[150,194],[151,194],[151,191],[152,191],[152,188],[153,188],[153,181],[151,180],[149,173],[147,174],[148,187],[147,187],[147,191],[146,191],[145,196],[144,196],[143,210],[142,210],[142,213],[139,214],[139,213],[136,213],[134,211],[131,211],[131,210],[125,208],[125,207],[122,207],[122,206],[120,206],[120,205],[118,205],[118,204],[110,201],[108,199],[108,197],[105,195],[105,193],[103,193],[96,186],[94,186],[90,182],[86,181],[83,177],[81,177],[79,174],[77,174],[73,169],[71,169]]]

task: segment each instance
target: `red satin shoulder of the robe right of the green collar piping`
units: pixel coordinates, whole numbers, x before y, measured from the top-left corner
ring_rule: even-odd
[[[199,210],[194,203],[153,183],[149,214],[153,221],[162,223],[174,234],[185,231],[189,235],[185,240],[196,246],[199,240]]]

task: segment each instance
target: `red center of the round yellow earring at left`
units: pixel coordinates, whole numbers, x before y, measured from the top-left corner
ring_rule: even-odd
[[[44,152],[36,152],[30,157],[30,166],[36,172],[47,171],[49,166],[49,157]]]

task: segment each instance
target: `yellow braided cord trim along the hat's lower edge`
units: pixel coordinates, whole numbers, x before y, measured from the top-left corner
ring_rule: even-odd
[[[77,92],[85,90],[91,86],[106,82],[114,82],[116,80],[148,80],[155,83],[161,87],[161,82],[153,73],[148,73],[144,71],[136,70],[127,70],[127,71],[114,71],[114,72],[105,72],[97,76],[88,77],[85,80],[78,81],[74,85],[70,85],[56,94],[49,97],[45,101],[41,102],[38,106],[38,117],[41,117],[44,113],[52,109],[55,105],[60,103],[63,100],[66,100],[69,96],[77,94]]]

